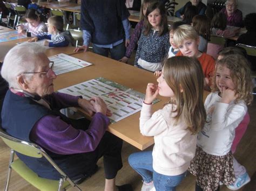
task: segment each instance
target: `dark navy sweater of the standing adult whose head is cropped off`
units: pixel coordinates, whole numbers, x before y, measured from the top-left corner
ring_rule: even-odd
[[[82,0],[81,26],[91,33],[97,45],[109,45],[125,39],[122,20],[130,16],[120,0]]]

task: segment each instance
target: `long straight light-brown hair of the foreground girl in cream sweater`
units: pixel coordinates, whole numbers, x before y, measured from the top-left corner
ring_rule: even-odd
[[[174,56],[164,63],[163,74],[168,86],[173,90],[177,105],[178,122],[182,115],[187,129],[198,133],[204,126],[206,111],[203,102],[204,73],[196,58]]]

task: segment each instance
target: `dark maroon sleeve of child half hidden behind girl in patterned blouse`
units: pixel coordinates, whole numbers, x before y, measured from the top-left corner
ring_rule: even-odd
[[[129,46],[126,48],[126,53],[125,53],[125,56],[127,58],[130,58],[131,57],[131,54],[132,54],[132,51],[134,49],[134,47],[136,46],[136,44],[138,43],[138,40],[139,40],[139,37],[140,37],[140,34],[142,34],[142,29],[144,27],[144,22],[143,20],[140,20],[139,23],[137,23],[133,33],[132,33],[132,37],[131,37],[131,40],[130,40],[130,44]]]

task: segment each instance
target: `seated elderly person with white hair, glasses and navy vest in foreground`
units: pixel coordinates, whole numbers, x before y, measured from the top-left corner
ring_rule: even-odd
[[[122,140],[105,132],[110,115],[99,97],[87,101],[78,96],[53,92],[54,63],[39,45],[21,44],[5,56],[1,74],[9,83],[2,126],[11,136],[41,145],[72,180],[84,180],[95,173],[97,161],[104,156],[105,190],[116,187],[115,177],[122,168]],[[59,109],[81,107],[94,114],[92,121],[72,120]],[[17,153],[38,176],[58,180],[59,173],[45,159]]]

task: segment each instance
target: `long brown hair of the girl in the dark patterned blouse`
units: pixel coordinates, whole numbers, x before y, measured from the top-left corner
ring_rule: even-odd
[[[160,15],[161,15],[161,23],[160,23],[160,30],[158,33],[158,36],[162,36],[164,35],[166,32],[168,32],[168,25],[167,25],[167,15],[166,15],[166,10],[165,7],[163,5],[163,3],[160,2],[154,2],[151,3],[148,7],[147,7],[147,12],[146,12],[146,17],[144,18],[144,25],[145,25],[145,31],[144,34],[145,36],[147,36],[148,34],[150,34],[151,32],[151,24],[149,23],[149,19],[147,17],[149,17],[149,14],[151,12],[153,12],[155,9],[159,9],[160,11]]]

